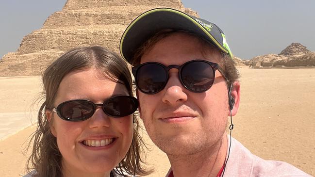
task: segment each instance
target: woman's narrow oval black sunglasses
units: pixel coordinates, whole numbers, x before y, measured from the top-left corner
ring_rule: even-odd
[[[95,113],[98,106],[111,117],[124,117],[134,113],[139,106],[137,98],[131,96],[117,96],[107,99],[104,103],[95,104],[86,99],[75,99],[63,102],[52,111],[66,121],[83,121]]]

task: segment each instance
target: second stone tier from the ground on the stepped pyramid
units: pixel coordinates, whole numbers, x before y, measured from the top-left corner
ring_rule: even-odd
[[[43,29],[34,31],[22,40],[18,53],[58,49],[66,51],[79,46],[103,46],[118,52],[118,44],[125,25],[94,25],[84,28]]]

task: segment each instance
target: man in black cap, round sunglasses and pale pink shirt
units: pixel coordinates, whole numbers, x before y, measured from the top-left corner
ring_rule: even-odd
[[[265,161],[227,135],[240,83],[215,24],[174,9],[152,9],[126,29],[120,52],[134,66],[149,137],[171,163],[166,177],[309,176],[288,163]]]

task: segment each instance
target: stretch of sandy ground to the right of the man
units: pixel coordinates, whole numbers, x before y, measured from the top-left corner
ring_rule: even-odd
[[[315,176],[315,69],[241,69],[233,137]]]

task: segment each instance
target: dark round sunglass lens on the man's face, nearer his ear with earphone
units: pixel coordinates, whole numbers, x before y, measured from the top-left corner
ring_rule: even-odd
[[[191,62],[182,67],[182,82],[193,92],[204,92],[214,82],[214,71],[210,64],[202,61]]]

